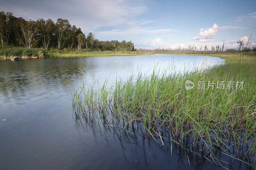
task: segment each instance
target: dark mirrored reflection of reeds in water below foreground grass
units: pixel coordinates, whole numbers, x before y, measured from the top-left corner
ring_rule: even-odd
[[[204,143],[194,146],[192,138],[184,137],[182,144],[176,142],[179,140],[172,139],[171,146],[170,130],[160,131],[164,139],[163,145],[159,137],[155,136],[154,139],[147,135],[147,130],[143,129],[142,122],[134,122],[123,129],[122,123],[120,125],[120,122],[111,121],[110,117],[93,114],[85,115],[83,111],[77,111],[77,109],[76,111],[74,110],[74,119],[76,128],[81,133],[83,131],[91,131],[93,133],[94,142],[97,146],[100,146],[98,140],[102,139],[107,145],[111,145],[113,141],[119,143],[122,147],[124,160],[127,163],[130,161],[127,155],[139,154],[145,166],[150,166],[152,162],[158,162],[159,159],[164,157],[165,161],[161,166],[172,167],[172,169],[188,167],[192,169],[218,169],[223,168],[223,166],[228,169],[253,169],[253,166],[249,165],[253,165],[253,159],[236,155],[236,147],[230,143],[227,143],[230,149],[229,155],[236,155],[236,159],[243,160],[248,164],[237,161],[228,155],[221,154],[223,151],[220,147],[225,148],[224,144],[221,144],[220,147],[216,146],[215,151],[210,152]],[[176,168],[174,168],[175,166]]]

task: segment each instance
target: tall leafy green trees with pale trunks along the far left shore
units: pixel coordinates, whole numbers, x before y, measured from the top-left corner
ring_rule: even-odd
[[[75,25],[71,26],[67,19],[43,18],[25,20],[13,16],[12,12],[0,12],[1,46],[25,48],[68,48],[134,51],[132,41],[100,41],[93,33],[87,36]]]

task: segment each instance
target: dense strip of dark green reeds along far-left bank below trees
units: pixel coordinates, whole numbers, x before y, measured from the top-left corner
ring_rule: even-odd
[[[35,57],[38,56],[39,58],[45,57],[45,49],[42,48],[9,48],[9,49],[4,49],[0,50],[0,56],[5,57],[5,58],[10,58],[10,57],[25,57],[25,58],[30,58],[30,57]]]

